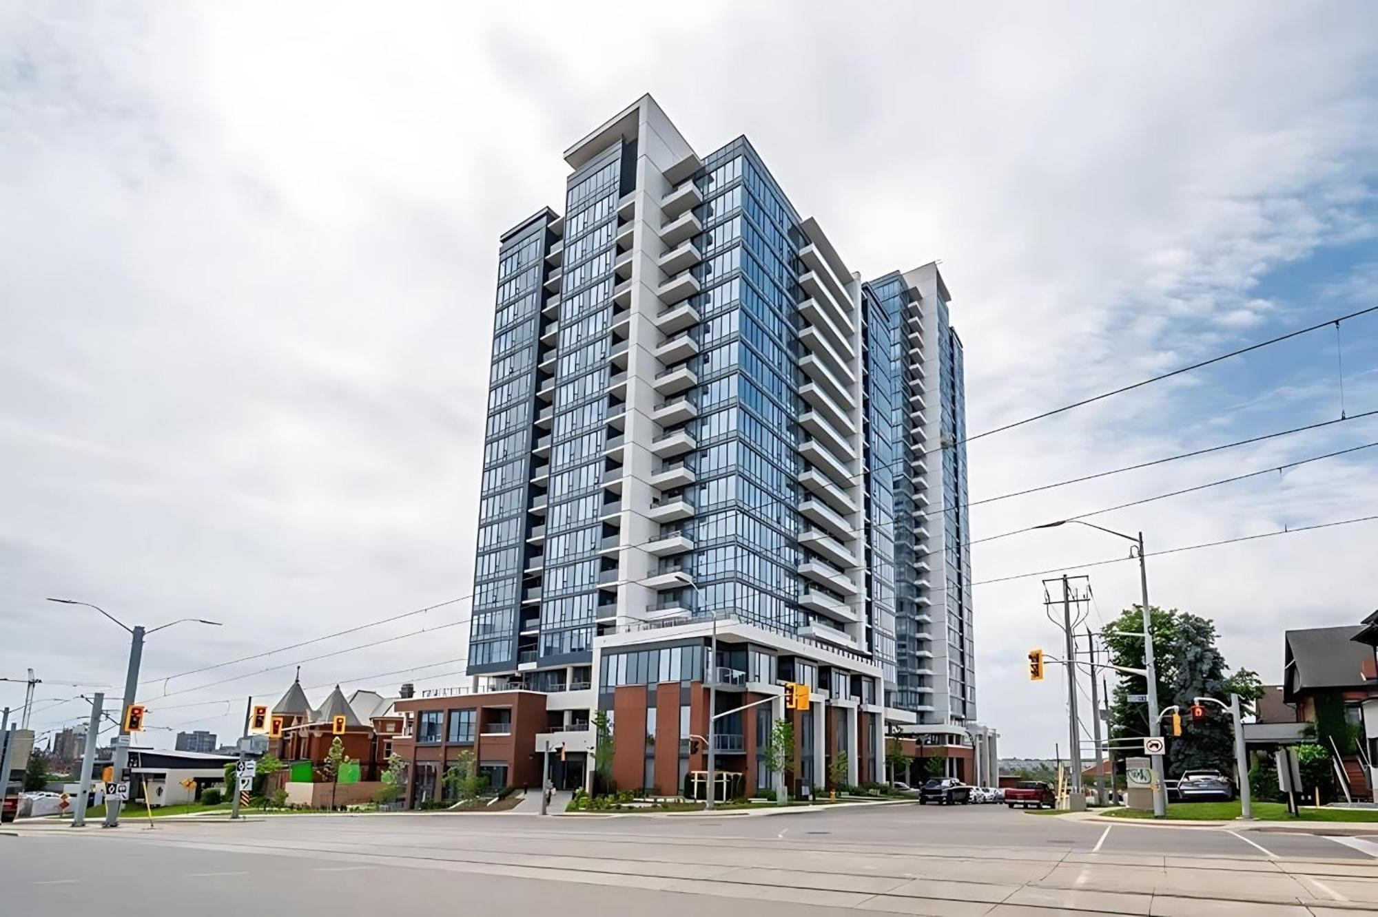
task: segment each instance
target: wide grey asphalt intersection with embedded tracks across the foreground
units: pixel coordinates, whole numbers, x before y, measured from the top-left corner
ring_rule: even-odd
[[[7,826],[8,828],[8,826]],[[1375,839],[1378,840],[1378,839]],[[1378,843],[1076,822],[996,805],[770,816],[375,815],[19,823],[0,913],[1338,914],[1378,910]],[[723,902],[726,903],[726,902]],[[741,906],[741,905],[737,905]],[[41,910],[40,910],[41,909]],[[1344,913],[1353,913],[1345,910]]]

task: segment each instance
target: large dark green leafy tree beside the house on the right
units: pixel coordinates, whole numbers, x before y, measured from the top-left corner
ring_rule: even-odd
[[[1239,694],[1244,713],[1253,712],[1254,702],[1264,695],[1258,673],[1239,669],[1233,675],[1225,657],[1215,646],[1215,624],[1196,614],[1177,609],[1149,609],[1153,635],[1153,662],[1158,666],[1158,702],[1164,709],[1178,705],[1184,715],[1192,698],[1211,697],[1228,704],[1231,694]],[[1144,640],[1130,633],[1144,629],[1141,606],[1124,609],[1108,631],[1122,632],[1107,636],[1109,661],[1113,665],[1144,668]],[[1141,675],[1120,675],[1111,702],[1112,738],[1148,735],[1148,705],[1130,704],[1129,695],[1146,694],[1148,683]],[[1169,720],[1163,721],[1170,732]],[[1182,771],[1218,767],[1229,771],[1235,761],[1235,731],[1226,713],[1211,706],[1204,723],[1191,723],[1184,716],[1182,735],[1169,738],[1167,763],[1171,775]]]

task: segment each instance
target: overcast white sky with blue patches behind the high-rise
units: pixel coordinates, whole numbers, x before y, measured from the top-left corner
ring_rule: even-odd
[[[558,211],[559,153],[646,91],[700,153],[748,135],[864,277],[941,259],[971,432],[1378,303],[1371,4],[502,11],[0,7],[0,676],[120,694],[125,635],[44,602],[70,596],[223,621],[149,639],[158,745],[227,739],[247,695],[373,640],[398,637],[305,662],[311,699],[457,683],[467,602],[201,669],[469,593],[497,235]],[[1345,408],[1378,410],[1378,317],[1339,344]],[[974,442],[971,498],[1337,419],[1339,381],[1334,329],[1308,335]],[[974,536],[1375,441],[1359,419],[1002,500]],[[1152,552],[1352,519],[1378,514],[1375,470],[1378,449],[1094,520]],[[1151,558],[1152,599],[1277,679],[1284,628],[1378,606],[1375,538]],[[973,566],[1124,547],[1064,527]],[[1137,599],[1133,566],[1086,571],[1089,624]],[[1058,639],[1039,580],[976,591],[1006,756],[1067,748],[1065,687],[1024,680]],[[81,690],[40,686],[34,726],[83,719],[58,704]]]

